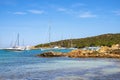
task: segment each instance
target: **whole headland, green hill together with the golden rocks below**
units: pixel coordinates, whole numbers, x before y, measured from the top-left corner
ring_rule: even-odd
[[[120,33],[39,44],[34,48],[74,48],[71,52],[45,52],[39,57],[120,58]]]

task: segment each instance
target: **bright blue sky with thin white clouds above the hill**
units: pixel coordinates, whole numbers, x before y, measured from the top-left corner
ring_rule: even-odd
[[[21,45],[120,33],[120,0],[0,0],[0,47],[18,33]]]

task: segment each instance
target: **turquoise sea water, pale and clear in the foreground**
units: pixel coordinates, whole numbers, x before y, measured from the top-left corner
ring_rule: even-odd
[[[0,80],[120,80],[120,59],[35,56],[46,51],[49,50],[0,50]]]

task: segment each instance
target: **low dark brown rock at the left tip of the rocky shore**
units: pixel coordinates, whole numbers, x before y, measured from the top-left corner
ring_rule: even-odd
[[[45,52],[42,54],[38,54],[37,56],[38,57],[63,57],[63,56],[65,56],[65,54],[51,51],[51,52]]]

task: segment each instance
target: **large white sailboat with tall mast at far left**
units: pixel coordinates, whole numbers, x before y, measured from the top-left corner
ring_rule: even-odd
[[[19,46],[19,34],[17,35],[17,40],[15,42],[15,45],[11,48],[5,48],[4,50],[7,50],[7,51],[23,51],[23,50],[25,50],[25,47]]]

